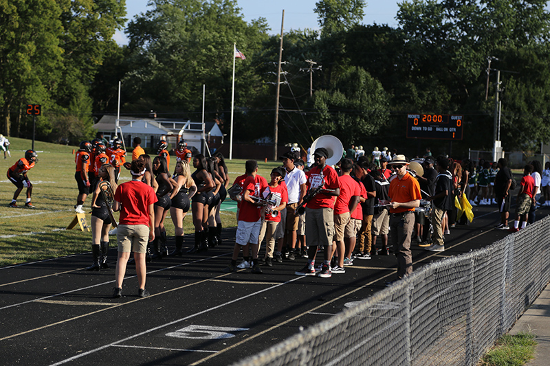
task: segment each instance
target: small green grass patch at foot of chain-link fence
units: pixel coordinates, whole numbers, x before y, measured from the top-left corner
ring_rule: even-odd
[[[533,359],[535,354],[535,336],[530,333],[519,333],[515,336],[506,334],[492,350],[487,352],[479,363],[480,366],[521,366]]]

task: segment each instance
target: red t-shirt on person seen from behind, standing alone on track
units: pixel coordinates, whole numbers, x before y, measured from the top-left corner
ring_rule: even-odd
[[[118,185],[115,201],[122,203],[120,225],[149,226],[149,205],[158,201],[153,188],[142,181]]]

